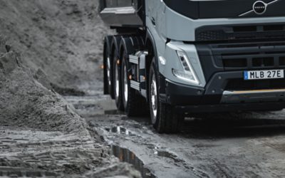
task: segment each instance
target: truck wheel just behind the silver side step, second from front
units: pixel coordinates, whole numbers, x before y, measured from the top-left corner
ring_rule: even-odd
[[[138,117],[145,115],[147,111],[147,103],[145,98],[142,98],[137,91],[130,87],[128,53],[124,50],[122,55],[122,91],[123,91],[123,105],[126,115],[128,117]]]

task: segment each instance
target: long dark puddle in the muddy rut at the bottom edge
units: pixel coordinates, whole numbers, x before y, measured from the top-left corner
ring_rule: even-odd
[[[145,167],[145,164],[143,164],[143,162],[138,159],[138,157],[136,157],[135,154],[130,150],[113,145],[112,153],[115,157],[118,157],[121,162],[133,164],[135,169],[140,171],[142,174],[142,178],[156,178],[155,175],[153,175],[150,170]]]

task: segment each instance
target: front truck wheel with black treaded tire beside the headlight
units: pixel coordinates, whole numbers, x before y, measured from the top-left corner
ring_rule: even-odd
[[[180,131],[184,115],[175,112],[172,105],[162,103],[159,95],[158,73],[155,68],[155,60],[150,65],[150,75],[148,80],[150,117],[153,127],[159,133],[176,133]]]

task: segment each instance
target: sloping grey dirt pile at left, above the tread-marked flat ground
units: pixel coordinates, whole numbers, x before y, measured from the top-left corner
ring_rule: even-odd
[[[51,89],[43,71],[33,75],[22,65],[19,54],[6,51],[4,41],[0,48],[0,125],[62,132],[86,130],[86,122]]]

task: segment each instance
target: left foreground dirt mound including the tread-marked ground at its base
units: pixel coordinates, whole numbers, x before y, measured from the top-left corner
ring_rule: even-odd
[[[33,75],[8,49],[0,40],[0,175],[140,178],[91,137],[43,70]]]

